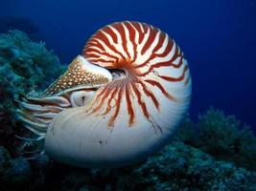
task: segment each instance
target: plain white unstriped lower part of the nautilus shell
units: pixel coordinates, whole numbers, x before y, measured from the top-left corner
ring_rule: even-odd
[[[160,113],[151,111],[151,121],[145,120],[137,109],[135,115],[139,117],[128,127],[127,108],[122,104],[111,129],[106,125],[109,117],[92,117],[82,107],[68,109],[55,117],[48,128],[46,153],[64,163],[97,168],[119,167],[145,159],[169,140],[188,102],[180,107],[162,98],[161,105],[166,108]]]

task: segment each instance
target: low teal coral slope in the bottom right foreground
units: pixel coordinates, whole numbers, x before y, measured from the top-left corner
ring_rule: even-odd
[[[142,190],[249,190],[256,178],[181,142],[168,145],[135,172]]]

